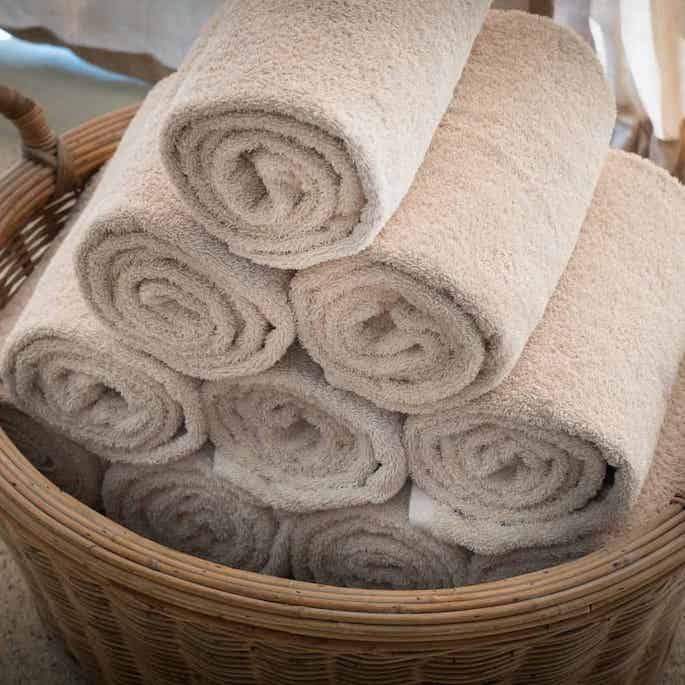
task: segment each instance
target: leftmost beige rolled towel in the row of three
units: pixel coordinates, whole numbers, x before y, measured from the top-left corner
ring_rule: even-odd
[[[77,233],[63,236],[5,340],[9,401],[111,460],[155,463],[191,454],[207,438],[199,381],[108,335],[76,283]]]

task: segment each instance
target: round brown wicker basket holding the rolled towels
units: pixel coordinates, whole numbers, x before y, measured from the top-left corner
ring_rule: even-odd
[[[0,90],[0,111],[32,160],[0,182],[2,306],[135,108],[59,144],[30,101]],[[0,432],[0,533],[46,624],[107,685],[656,683],[685,599],[683,504],[628,544],[512,580],[350,590],[154,544],[58,490]]]

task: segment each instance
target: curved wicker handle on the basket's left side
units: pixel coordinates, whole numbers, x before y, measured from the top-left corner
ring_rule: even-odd
[[[54,169],[55,197],[80,188],[71,155],[50,128],[41,107],[14,88],[0,85],[0,114],[16,126],[24,158]]]

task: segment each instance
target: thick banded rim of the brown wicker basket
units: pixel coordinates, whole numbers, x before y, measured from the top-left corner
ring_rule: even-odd
[[[89,120],[64,135],[81,178],[113,154],[136,109]],[[0,246],[53,191],[51,172],[35,162],[21,162],[0,180],[0,208],[8,210],[0,220]],[[22,207],[9,211],[17,197]],[[440,590],[340,588],[232,569],[148,540],[59,490],[0,431],[0,514],[54,553],[179,611],[338,641],[425,648],[498,633],[520,637],[540,626],[561,629],[589,612],[608,611],[621,597],[685,566],[684,506],[679,498],[624,543],[511,579]]]

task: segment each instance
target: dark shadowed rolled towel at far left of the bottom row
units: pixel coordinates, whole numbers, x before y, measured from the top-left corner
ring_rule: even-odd
[[[0,428],[46,478],[89,507],[100,503],[104,463],[59,433],[42,426],[2,397]]]

